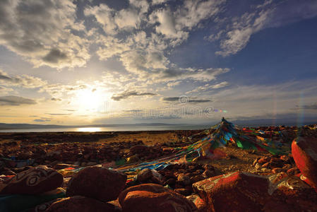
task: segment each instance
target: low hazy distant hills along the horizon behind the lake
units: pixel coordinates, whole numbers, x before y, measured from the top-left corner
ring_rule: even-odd
[[[1,129],[54,129],[78,127],[118,127],[118,126],[177,126],[179,124],[140,123],[140,124],[91,124],[91,125],[56,125],[56,124],[6,124],[0,123]]]

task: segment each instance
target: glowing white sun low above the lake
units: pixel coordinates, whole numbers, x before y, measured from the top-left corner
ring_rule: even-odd
[[[79,110],[96,111],[102,106],[104,99],[97,90],[78,90],[76,93],[76,105]]]

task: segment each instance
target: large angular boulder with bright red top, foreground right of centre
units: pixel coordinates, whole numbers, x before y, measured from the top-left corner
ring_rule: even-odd
[[[193,184],[209,211],[261,211],[269,195],[268,188],[266,177],[245,172],[219,175]]]

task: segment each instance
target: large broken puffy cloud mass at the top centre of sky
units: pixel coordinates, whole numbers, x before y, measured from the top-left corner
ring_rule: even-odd
[[[116,57],[138,81],[168,82],[187,78],[208,81],[215,79],[212,73],[215,69],[181,69],[172,64],[167,55],[171,48],[184,42],[201,21],[216,16],[224,2],[182,1],[177,6],[161,4],[151,10],[147,1],[133,0],[119,11],[107,4],[99,4],[86,7],[84,13],[94,17],[96,28],[102,28],[104,32],[95,30],[92,35],[99,45],[99,58]]]

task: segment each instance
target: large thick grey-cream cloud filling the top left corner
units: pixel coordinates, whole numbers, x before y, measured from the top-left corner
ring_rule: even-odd
[[[0,1],[0,45],[35,66],[84,66],[90,54],[76,9],[72,1]]]

